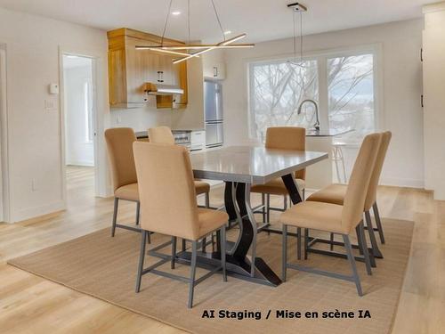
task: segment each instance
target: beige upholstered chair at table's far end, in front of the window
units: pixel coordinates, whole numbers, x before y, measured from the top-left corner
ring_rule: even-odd
[[[306,129],[303,127],[269,127],[266,132],[267,149],[279,150],[306,150]],[[304,200],[304,179],[306,170],[301,169],[295,172],[295,183],[301,191],[302,199]],[[262,194],[263,207],[263,222],[270,222],[270,210],[284,211],[287,209],[287,195],[288,191],[283,180],[279,177],[269,183],[257,184],[252,186],[252,192]],[[283,196],[284,208],[271,208],[271,195]],[[289,201],[290,202],[290,201]]]

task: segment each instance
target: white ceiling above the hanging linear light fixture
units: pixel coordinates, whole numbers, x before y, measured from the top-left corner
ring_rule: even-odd
[[[214,0],[223,29],[246,32],[252,42],[293,34],[292,0]],[[304,34],[349,29],[422,16],[422,4],[434,0],[303,0]],[[132,28],[161,35],[169,0],[0,0],[0,6],[67,20],[99,29]],[[210,0],[190,0],[191,39],[222,39]],[[186,40],[187,0],[173,0],[166,36]]]

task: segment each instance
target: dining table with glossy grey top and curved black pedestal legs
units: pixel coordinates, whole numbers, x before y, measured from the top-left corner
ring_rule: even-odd
[[[256,145],[227,146],[190,154],[196,179],[225,183],[223,209],[229,215],[230,222],[239,224],[236,240],[226,241],[228,275],[272,287],[279,286],[281,280],[271,270],[267,259],[256,257],[256,236],[269,227],[269,222],[256,222],[255,208],[250,200],[251,186],[281,177],[295,205],[302,201],[301,191],[295,183],[295,171],[324,159],[328,159],[326,152],[277,150]],[[220,238],[219,233],[217,238]],[[221,254],[220,243],[216,244],[216,249],[198,253],[198,266],[209,270],[220,266],[224,255]],[[186,249],[177,253],[178,262],[188,263],[190,257],[191,253]]]

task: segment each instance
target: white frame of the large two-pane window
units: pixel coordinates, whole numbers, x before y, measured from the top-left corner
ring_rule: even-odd
[[[373,55],[373,77],[374,77],[374,128],[376,131],[384,128],[384,108],[383,108],[383,45],[358,45],[351,47],[342,47],[336,49],[315,51],[305,53],[303,61],[317,61],[318,80],[319,80],[319,112],[322,130],[328,130],[328,59],[336,57],[359,56],[363,54]],[[248,108],[248,136],[250,140],[259,140],[256,138],[256,124],[254,111],[254,91],[255,79],[254,66],[257,64],[276,64],[283,61],[292,60],[293,54],[281,54],[263,58],[247,60],[247,108]]]

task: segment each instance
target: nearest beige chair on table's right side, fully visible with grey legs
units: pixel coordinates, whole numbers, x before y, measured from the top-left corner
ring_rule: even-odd
[[[352,255],[351,241],[349,234],[355,228],[358,232],[361,242],[361,250],[365,257],[368,274],[370,274],[370,261],[368,246],[363,227],[363,207],[367,197],[368,186],[373,173],[376,157],[379,151],[382,134],[369,134],[363,141],[359,156],[357,157],[351,175],[351,181],[348,184],[346,195],[344,196],[344,205],[304,201],[287,209],[280,217],[283,224],[283,281],[286,281],[287,268],[301,270],[309,273],[318,273],[346,281],[354,281],[359,295],[362,295],[360,277],[357,273],[355,258]],[[318,269],[313,269],[303,265],[287,264],[287,226],[295,226],[308,229],[314,229],[324,232],[341,234],[344,240],[346,255],[352,267],[352,276],[340,273],[330,273]],[[304,246],[307,246],[307,233],[304,237]]]

